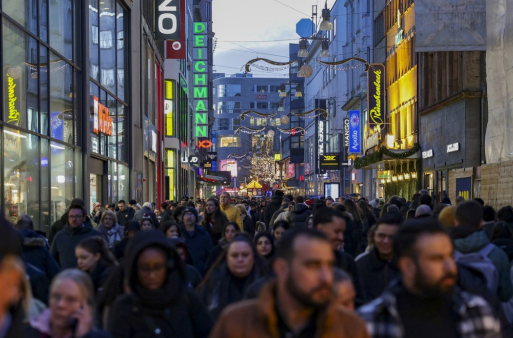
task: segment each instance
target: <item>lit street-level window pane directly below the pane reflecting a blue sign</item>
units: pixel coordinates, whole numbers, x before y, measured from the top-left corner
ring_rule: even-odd
[[[51,196],[52,203],[61,202],[69,206],[74,189],[74,158],[73,149],[62,143],[50,142],[51,163]]]

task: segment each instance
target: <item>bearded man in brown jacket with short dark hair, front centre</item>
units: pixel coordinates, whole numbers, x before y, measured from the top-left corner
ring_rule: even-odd
[[[210,337],[368,337],[361,319],[330,301],[333,261],[319,231],[285,233],[272,264],[276,281],[258,299],[226,308]]]

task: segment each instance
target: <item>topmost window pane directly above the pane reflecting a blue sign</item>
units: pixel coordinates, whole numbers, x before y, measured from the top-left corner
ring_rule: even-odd
[[[71,0],[50,1],[50,47],[73,58],[73,11]]]

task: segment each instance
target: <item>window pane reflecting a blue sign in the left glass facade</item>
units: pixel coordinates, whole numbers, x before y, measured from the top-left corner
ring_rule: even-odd
[[[50,53],[51,136],[67,143],[73,143],[73,123],[71,122],[73,120],[74,89],[72,83],[71,65]]]

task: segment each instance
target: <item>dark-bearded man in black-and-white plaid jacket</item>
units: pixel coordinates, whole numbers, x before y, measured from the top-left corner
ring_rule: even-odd
[[[456,285],[452,242],[436,220],[406,222],[393,245],[401,278],[358,310],[373,337],[501,336],[490,305]]]

